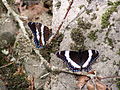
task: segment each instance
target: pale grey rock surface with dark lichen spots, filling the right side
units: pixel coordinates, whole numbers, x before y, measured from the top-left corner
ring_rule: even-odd
[[[117,1],[117,0],[114,0]],[[56,4],[58,2],[61,2],[61,5],[59,9],[56,7]],[[85,46],[87,49],[96,49],[100,53],[100,57],[97,60],[97,62],[93,65],[93,69],[97,71],[97,74],[99,76],[116,76],[117,73],[120,71],[119,70],[119,58],[120,55],[117,54],[120,48],[120,43],[119,43],[119,36],[120,36],[120,15],[119,15],[119,7],[118,7],[118,12],[114,12],[111,17],[110,17],[110,23],[114,23],[114,26],[106,29],[101,29],[101,16],[102,14],[109,8],[107,6],[107,0],[92,0],[91,3],[88,4],[87,0],[74,0],[74,3],[72,5],[72,9],[70,10],[68,17],[64,20],[63,27],[61,31],[65,31],[65,37],[63,41],[61,42],[60,45],[60,50],[70,50],[70,44],[73,43],[70,38],[70,31],[66,29],[65,27],[76,17],[76,15],[80,12],[79,7],[81,5],[85,5],[87,7],[87,10],[92,10],[89,14],[86,12],[82,13],[79,17],[82,18],[84,21],[90,22],[92,24],[90,29],[83,30],[83,35],[86,38],[85,39]],[[53,29],[56,29],[60,25],[60,23],[63,20],[63,17],[66,13],[67,7],[69,6],[69,1],[67,0],[53,0]],[[91,20],[93,18],[93,14],[96,14],[97,18],[94,20]],[[111,21],[114,18],[114,22]],[[61,22],[60,22],[61,21]],[[76,27],[76,21],[72,22],[69,25],[70,29]],[[88,38],[88,34],[91,31],[96,31],[97,39],[95,41],[91,40]],[[109,43],[105,43],[105,37],[106,33],[108,33],[108,38],[111,38],[113,41],[113,46],[110,46]],[[62,66],[63,65],[62,60],[60,61],[59,59],[55,59],[54,55],[52,56],[52,63],[54,62],[59,62],[57,63],[57,66]],[[54,64],[53,64],[54,65]],[[67,77],[66,77],[67,76]],[[49,90],[78,90],[76,87],[73,87],[76,85],[76,79],[73,75],[69,74],[59,74],[56,76],[57,80],[52,78],[51,79],[51,89]],[[67,79],[69,78],[69,79]],[[70,81],[69,81],[70,80]],[[53,83],[54,82],[54,83]],[[106,79],[103,80],[103,82],[107,85],[112,84],[112,79]],[[67,83],[67,88],[64,87],[64,85],[61,85],[61,83]],[[112,85],[111,88],[113,90],[118,90],[116,85]]]

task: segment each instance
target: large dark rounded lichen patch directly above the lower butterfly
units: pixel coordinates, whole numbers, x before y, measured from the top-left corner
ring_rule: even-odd
[[[72,50],[80,50],[85,48],[84,46],[85,37],[83,36],[83,33],[80,28],[72,29],[71,38],[75,42],[75,44],[71,44]]]

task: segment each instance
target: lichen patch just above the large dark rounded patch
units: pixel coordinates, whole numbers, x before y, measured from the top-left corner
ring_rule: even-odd
[[[90,22],[85,22],[85,21],[83,21],[82,18],[79,18],[77,21],[78,21],[78,28],[90,29],[92,26],[92,24]]]

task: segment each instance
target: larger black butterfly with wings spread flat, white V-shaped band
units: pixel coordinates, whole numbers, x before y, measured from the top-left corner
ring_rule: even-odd
[[[73,72],[90,71],[91,65],[99,57],[99,52],[96,50],[81,51],[59,51],[57,57],[62,59],[68,65],[68,68]]]

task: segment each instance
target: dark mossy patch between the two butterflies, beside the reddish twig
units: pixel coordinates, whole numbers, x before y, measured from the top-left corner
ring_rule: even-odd
[[[62,41],[63,36],[63,34],[59,34],[48,46],[40,50],[41,55],[46,60],[50,60],[50,53],[55,53],[59,50],[60,42]]]

